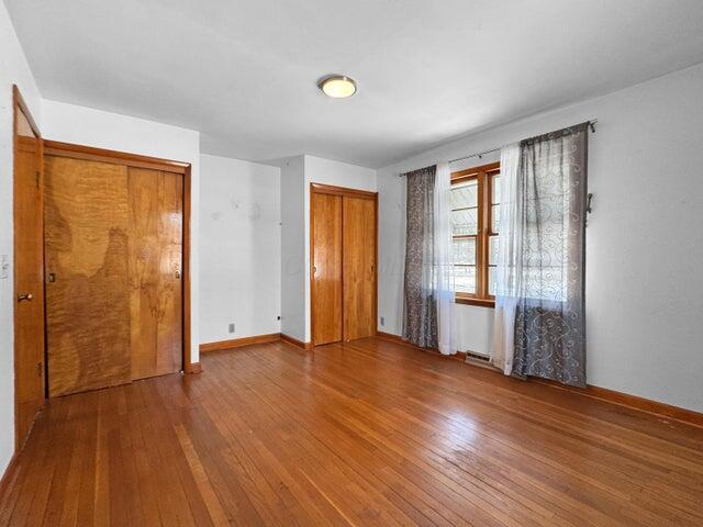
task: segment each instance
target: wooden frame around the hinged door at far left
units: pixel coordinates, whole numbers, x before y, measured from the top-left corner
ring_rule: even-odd
[[[20,117],[20,112],[22,112],[22,114],[24,114],[26,121],[30,123],[30,127],[32,128],[32,132],[34,133],[34,135],[36,136],[36,138],[38,139],[38,150],[37,150],[37,156],[38,156],[38,190],[40,190],[40,200],[37,203],[37,206],[40,209],[40,217],[41,217],[41,229],[42,229],[42,238],[44,237],[44,142],[42,141],[42,133],[40,132],[38,126],[36,125],[36,122],[34,121],[34,117],[32,116],[32,113],[30,112],[29,106],[26,105],[26,102],[24,102],[24,98],[22,97],[22,93],[20,93],[20,88],[18,88],[16,85],[12,85],[12,175],[13,178],[16,176],[18,173],[18,150],[20,147],[20,142],[19,142],[19,117]],[[16,258],[16,254],[14,253],[14,238],[15,238],[15,229],[18,228],[15,222],[14,222],[14,203],[16,201],[16,195],[14,194],[14,182],[12,186],[12,250],[13,250],[13,255],[12,255],[12,269],[13,269],[13,277],[12,277],[12,324],[13,324],[13,332],[14,328],[16,327],[16,318],[18,318],[18,294],[19,291],[16,290],[16,285],[15,285],[15,278],[14,278],[14,260]],[[44,276],[44,254],[41,253],[40,254],[40,261],[36,262],[36,265],[41,268],[41,276]],[[42,287],[44,287],[44,281],[42,281]],[[44,301],[45,295],[42,294],[42,300]],[[46,354],[46,319],[43,318],[42,319],[42,325],[43,328],[42,330],[44,332],[44,354]],[[16,346],[16,340],[14,340],[13,345],[13,369],[14,369],[14,451],[18,452],[21,448],[22,445],[24,444],[24,440],[26,439],[25,437],[20,437],[20,427],[19,427],[19,413],[20,413],[20,404],[19,404],[19,397],[18,397],[18,379],[20,379],[20,375],[18,375],[18,356],[19,356],[19,350],[18,350],[18,346]],[[44,360],[44,372],[43,374],[43,379],[44,379],[44,386],[43,386],[43,393],[44,393],[44,400],[46,401],[46,360]],[[27,433],[29,436],[29,433]]]

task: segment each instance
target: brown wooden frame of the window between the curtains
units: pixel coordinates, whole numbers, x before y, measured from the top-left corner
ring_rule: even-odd
[[[490,162],[479,167],[471,167],[451,172],[451,184],[477,180],[478,182],[478,227],[476,235],[451,236],[455,238],[476,239],[476,293],[456,293],[457,304],[494,307],[495,296],[488,292],[490,238],[496,236],[493,232],[493,176],[500,173],[501,164]]]

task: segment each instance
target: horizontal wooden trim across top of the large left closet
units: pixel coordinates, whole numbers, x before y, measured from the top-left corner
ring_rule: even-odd
[[[58,157],[70,157],[72,159],[85,159],[88,161],[112,162],[115,165],[126,165],[134,168],[148,168],[152,170],[163,170],[166,172],[186,173],[190,167],[189,162],[161,159],[159,157],[142,156],[126,152],[108,150],[94,148],[92,146],[75,145],[72,143],[62,143],[59,141],[44,139],[44,154]]]

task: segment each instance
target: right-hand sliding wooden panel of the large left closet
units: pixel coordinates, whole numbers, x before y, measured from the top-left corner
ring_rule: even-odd
[[[130,168],[132,379],[181,369],[182,177]]]

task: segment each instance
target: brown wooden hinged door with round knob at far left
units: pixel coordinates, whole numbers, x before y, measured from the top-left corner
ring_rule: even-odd
[[[44,405],[42,141],[14,89],[15,449]]]

